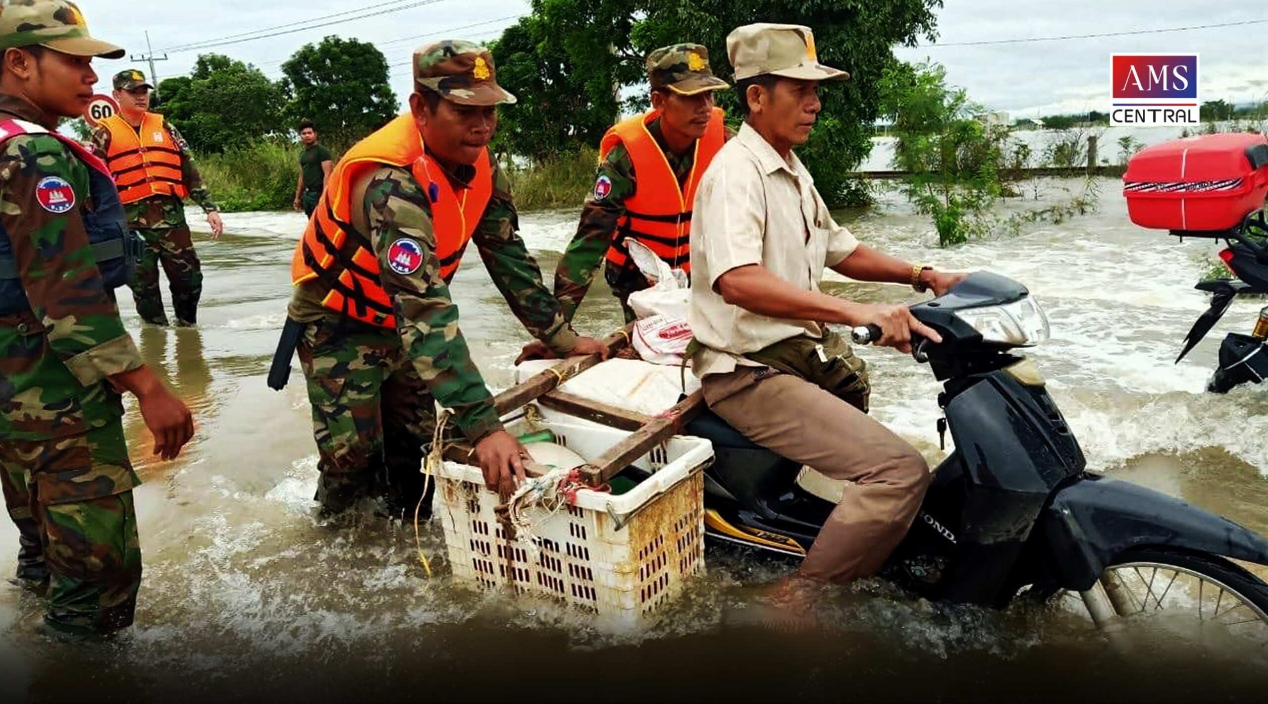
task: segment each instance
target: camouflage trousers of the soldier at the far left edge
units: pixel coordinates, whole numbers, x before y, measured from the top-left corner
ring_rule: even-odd
[[[63,633],[132,624],[141,589],[133,482],[112,476],[133,477],[119,420],[51,440],[0,441],[0,486],[18,526],[16,576],[47,590],[44,622]]]

